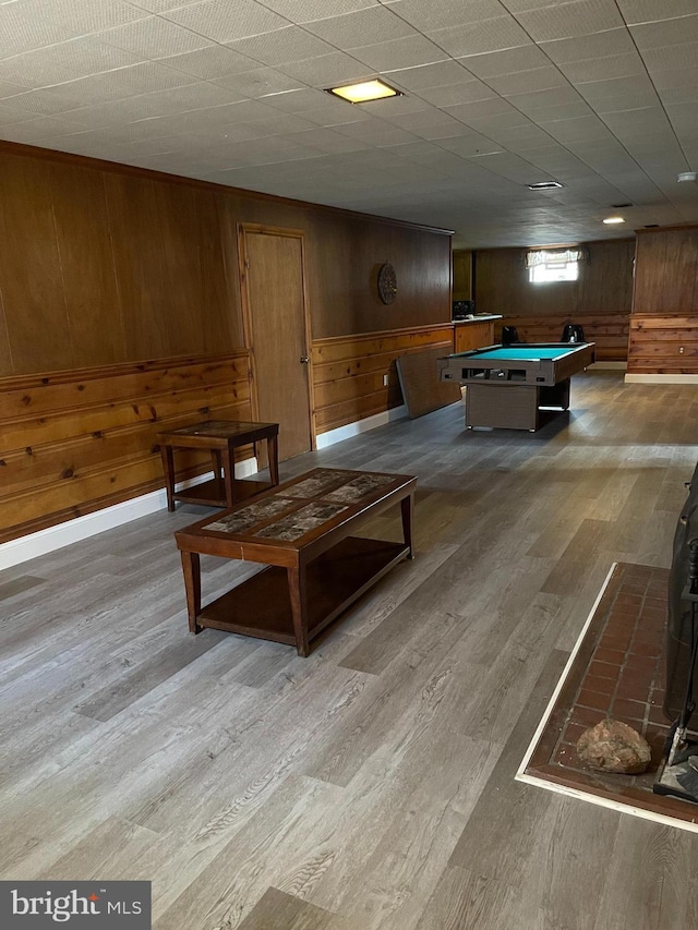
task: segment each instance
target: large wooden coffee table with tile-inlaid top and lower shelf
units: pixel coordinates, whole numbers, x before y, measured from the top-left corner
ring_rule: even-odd
[[[308,655],[327,624],[412,558],[416,487],[411,475],[318,468],[179,530],[190,631],[244,633]],[[352,535],[364,518],[398,503],[404,542]],[[202,554],[268,567],[202,608]]]

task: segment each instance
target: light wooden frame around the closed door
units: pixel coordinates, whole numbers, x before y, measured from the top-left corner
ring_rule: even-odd
[[[240,305],[242,309],[242,335],[244,348],[248,350],[248,377],[250,382],[250,406],[252,416],[260,418],[260,404],[257,397],[257,381],[254,359],[254,345],[252,339],[252,307],[250,300],[250,281],[248,278],[248,250],[245,237],[278,235],[285,239],[298,239],[301,246],[301,290],[303,304],[303,330],[305,336],[305,354],[308,355],[308,419],[310,424],[310,448],[317,449],[317,435],[315,430],[315,391],[313,385],[313,355],[312,355],[312,328],[310,307],[308,301],[308,281],[305,278],[305,232],[302,229],[286,229],[280,226],[266,226],[258,222],[238,222],[238,270],[240,275]]]

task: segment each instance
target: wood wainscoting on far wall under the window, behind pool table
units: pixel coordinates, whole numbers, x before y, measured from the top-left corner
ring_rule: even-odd
[[[502,326],[515,326],[525,342],[558,342],[565,324],[580,324],[585,339],[595,342],[598,362],[625,362],[628,358],[629,314],[585,313],[570,317],[568,314],[542,316],[505,316],[495,326],[495,340],[502,338]]]

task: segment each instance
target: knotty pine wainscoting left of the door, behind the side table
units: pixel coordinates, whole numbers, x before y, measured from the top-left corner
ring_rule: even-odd
[[[251,419],[245,350],[0,379],[0,543],[163,487],[157,433],[209,419]]]

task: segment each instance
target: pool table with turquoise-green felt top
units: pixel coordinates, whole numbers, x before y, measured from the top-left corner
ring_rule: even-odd
[[[593,342],[518,342],[438,359],[441,381],[466,389],[466,426],[528,430],[540,409],[569,407],[569,379],[594,360]]]

